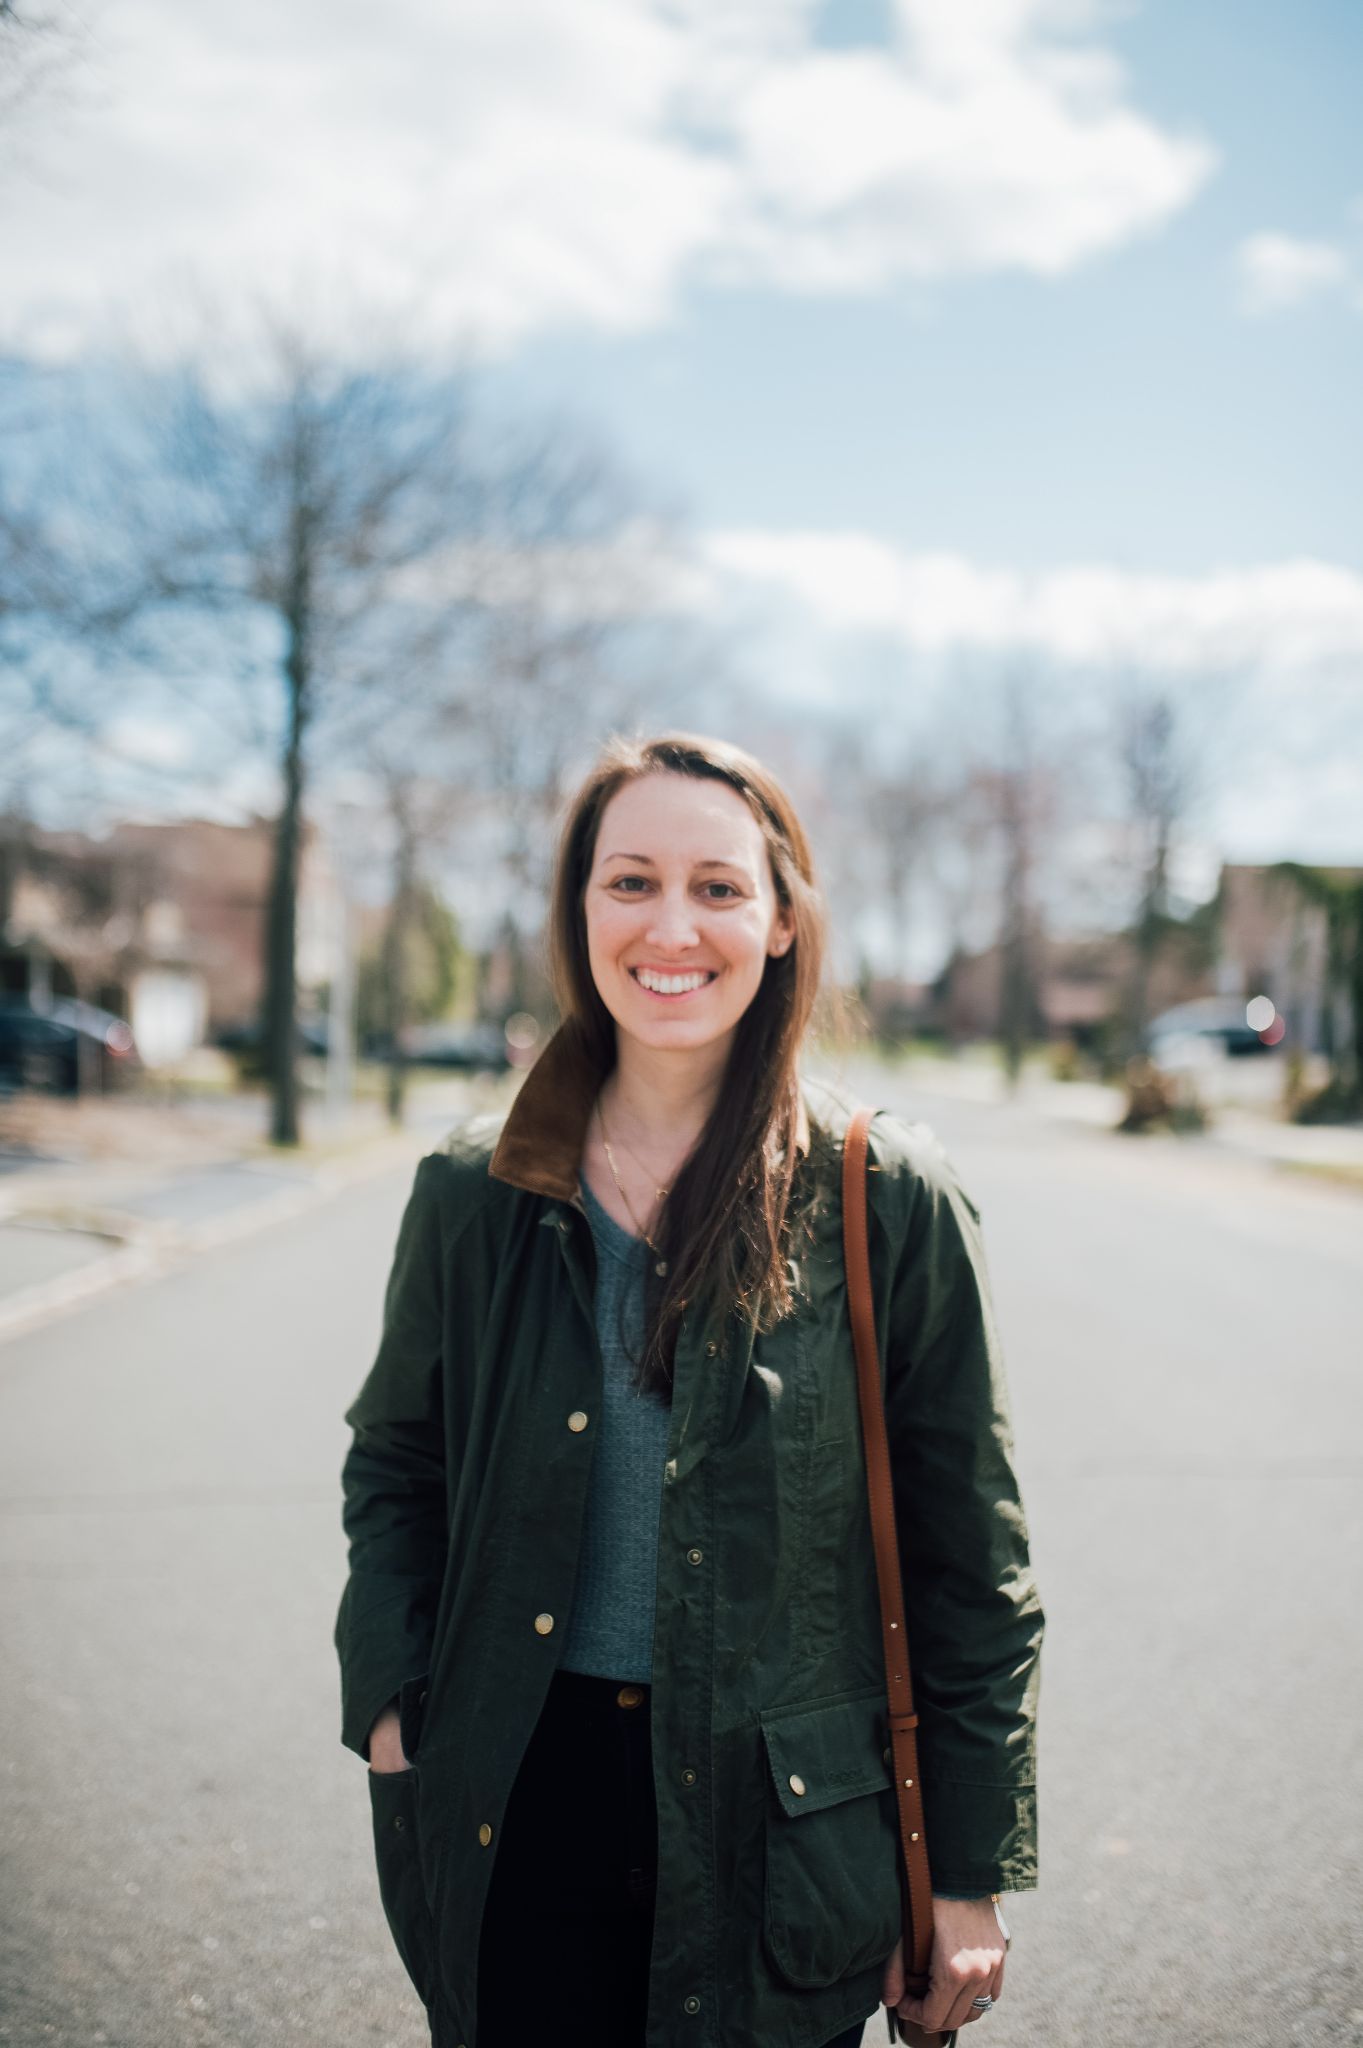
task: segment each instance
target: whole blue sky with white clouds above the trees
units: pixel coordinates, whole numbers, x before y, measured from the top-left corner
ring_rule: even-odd
[[[602,424],[772,702],[1142,672],[1226,739],[1205,846],[1363,858],[1355,0],[80,18],[6,137],[10,354],[170,350],[190,279],[385,305]]]

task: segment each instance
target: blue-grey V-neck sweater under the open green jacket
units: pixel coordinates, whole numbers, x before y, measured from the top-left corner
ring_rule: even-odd
[[[651,1253],[602,1208],[585,1180],[581,1198],[596,1241],[596,1329],[606,1370],[573,1612],[559,1663],[567,1671],[647,1686],[653,1679],[657,1522],[671,1425],[667,1405],[630,1384]]]

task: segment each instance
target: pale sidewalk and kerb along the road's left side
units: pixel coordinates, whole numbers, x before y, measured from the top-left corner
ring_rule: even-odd
[[[0,1341],[125,1280],[264,1229],[368,1174],[415,1161],[503,1083],[415,1077],[401,1128],[377,1100],[305,1098],[297,1151],[268,1143],[264,1096],[0,1104]]]

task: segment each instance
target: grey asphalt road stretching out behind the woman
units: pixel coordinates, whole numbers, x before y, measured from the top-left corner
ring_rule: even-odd
[[[1363,1202],[911,1108],[984,1214],[1048,1614],[980,2048],[1363,2044]],[[332,1649],[405,1190],[0,1348],[4,2044],[428,2040]]]

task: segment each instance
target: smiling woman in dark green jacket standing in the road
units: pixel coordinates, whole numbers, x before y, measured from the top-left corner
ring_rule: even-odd
[[[1003,1991],[1036,1884],[1044,1614],[978,1212],[868,1176],[933,1876],[900,1847],[841,1253],[849,1104],[798,1071],[823,911],[788,795],[612,741],[551,913],[565,1022],[422,1159],[346,1413],[342,1741],[436,2048],[853,2048]],[[598,1442],[600,1440],[600,1442]]]

